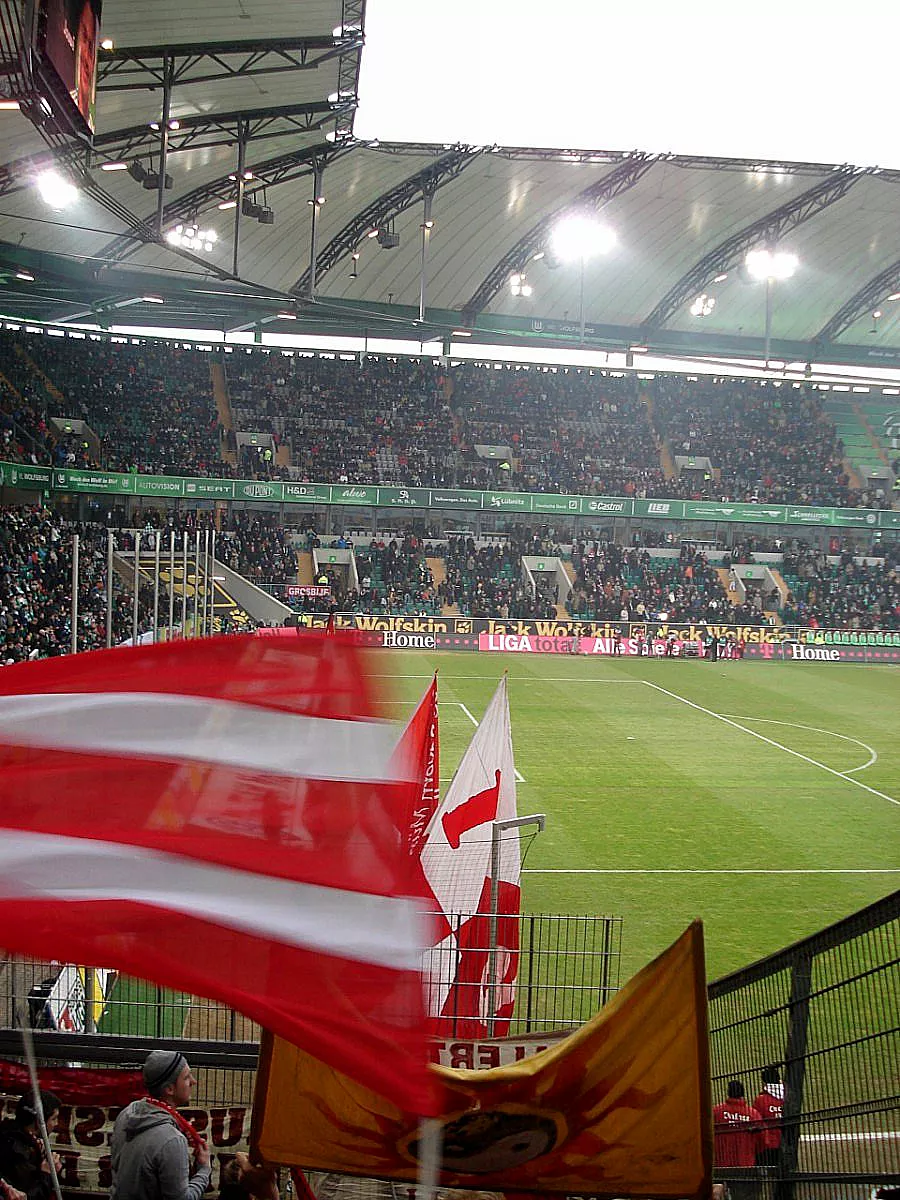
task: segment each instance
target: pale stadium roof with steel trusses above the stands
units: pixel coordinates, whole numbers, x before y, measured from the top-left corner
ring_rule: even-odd
[[[276,313],[289,310],[296,324],[286,328],[295,330],[408,336],[422,328],[414,322],[430,194],[427,330],[468,323],[492,342],[577,343],[581,270],[553,262],[548,234],[560,214],[586,209],[618,239],[584,269],[592,344],[758,355],[766,288],[743,260],[778,242],[802,269],[773,288],[773,355],[900,362],[900,300],[888,299],[900,295],[899,172],[356,142],[364,18],[365,0],[104,0],[115,48],[101,53],[92,152],[0,112],[2,312],[119,323],[126,308],[134,324],[276,329],[288,319]],[[1,32],[8,95],[20,96],[16,31]],[[162,122],[167,92],[178,126],[167,133],[173,186],[162,192],[160,229],[157,192],[102,164],[158,172],[162,132],[151,125]],[[52,160],[83,187],[61,212],[32,186]],[[222,208],[238,199],[239,164],[250,176],[245,200],[271,209],[274,223]],[[326,203],[311,203],[316,194]],[[211,253],[166,242],[166,230],[194,220],[216,232]],[[376,229],[398,244],[382,248],[368,236]],[[17,278],[20,268],[35,281]],[[509,286],[522,271],[528,299]],[[716,301],[706,318],[690,312],[701,293]],[[142,301],[148,294],[164,305]]]

